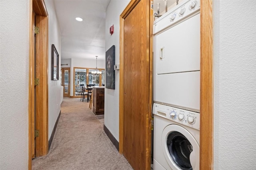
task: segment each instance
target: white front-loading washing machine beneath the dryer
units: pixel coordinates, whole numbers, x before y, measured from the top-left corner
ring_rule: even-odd
[[[154,170],[199,170],[200,114],[154,103]]]

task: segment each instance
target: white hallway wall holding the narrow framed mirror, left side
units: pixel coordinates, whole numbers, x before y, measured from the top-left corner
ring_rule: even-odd
[[[60,113],[63,99],[63,86],[60,85],[61,34],[52,0],[45,0],[48,12],[48,140]],[[52,80],[52,44],[59,54],[59,80]]]

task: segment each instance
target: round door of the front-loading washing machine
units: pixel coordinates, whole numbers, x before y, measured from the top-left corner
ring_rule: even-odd
[[[164,157],[172,170],[198,170],[199,144],[180,125],[168,125],[162,132]]]

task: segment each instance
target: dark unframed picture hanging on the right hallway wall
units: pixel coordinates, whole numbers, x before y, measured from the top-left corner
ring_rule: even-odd
[[[106,88],[115,89],[115,46],[106,51]]]

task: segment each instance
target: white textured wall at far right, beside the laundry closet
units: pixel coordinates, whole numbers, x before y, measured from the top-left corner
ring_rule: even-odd
[[[214,1],[214,169],[256,167],[256,1]]]

